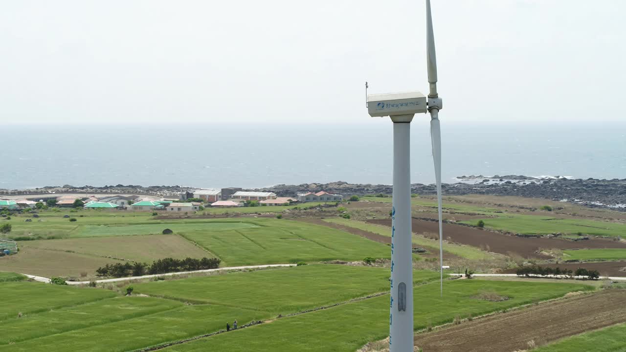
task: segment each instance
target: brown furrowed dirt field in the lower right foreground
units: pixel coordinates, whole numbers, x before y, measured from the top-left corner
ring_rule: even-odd
[[[626,321],[626,291],[612,289],[466,321],[415,336],[428,352],[512,352]]]

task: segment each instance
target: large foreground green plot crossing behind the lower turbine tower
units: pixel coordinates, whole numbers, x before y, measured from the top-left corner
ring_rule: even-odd
[[[589,288],[580,284],[457,280],[445,282],[446,295],[440,298],[439,285],[426,284],[414,289],[414,324],[416,329],[426,328],[429,324],[436,326],[452,321],[457,314],[478,316],[534,300],[557,298],[579,289]],[[510,299],[491,302],[474,298],[485,290]],[[385,338],[388,329],[389,296],[386,295],[277,319],[272,323],[198,339],[163,351],[354,352],[368,341]]]

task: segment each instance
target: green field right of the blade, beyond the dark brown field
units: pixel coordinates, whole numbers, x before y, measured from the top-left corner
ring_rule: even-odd
[[[485,227],[496,230],[519,232],[521,234],[589,234],[593,236],[623,236],[626,224],[585,219],[558,219],[549,216],[506,214],[500,217],[483,219]],[[478,220],[461,221],[475,225]]]

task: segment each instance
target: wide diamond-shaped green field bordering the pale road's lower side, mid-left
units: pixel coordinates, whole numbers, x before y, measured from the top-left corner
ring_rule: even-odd
[[[414,281],[437,272],[416,271]],[[389,290],[389,269],[316,264],[134,285],[150,296],[287,314]]]

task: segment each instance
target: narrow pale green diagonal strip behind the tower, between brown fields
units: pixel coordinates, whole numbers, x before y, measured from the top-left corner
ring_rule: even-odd
[[[389,230],[389,227],[385,226],[367,224],[366,222],[348,219],[324,219],[324,221],[355,227],[356,229],[374,232],[375,234],[379,234],[382,236],[391,236],[391,231]],[[424,236],[413,235],[413,243],[417,244],[418,246],[422,246],[429,251],[439,251],[439,242],[434,239],[428,239]],[[481,251],[476,247],[459,246],[458,244],[449,244],[446,242],[444,242],[443,244],[443,250],[456,256],[468,259],[490,259],[491,257],[493,257],[493,254]]]

